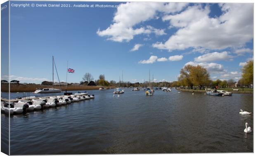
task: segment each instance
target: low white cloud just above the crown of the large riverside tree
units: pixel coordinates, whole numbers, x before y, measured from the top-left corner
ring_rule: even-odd
[[[213,73],[223,73],[226,72],[224,70],[223,65],[220,65],[218,63],[197,63],[197,62],[188,62],[185,65],[201,65],[202,67],[206,68],[208,72],[213,72]]]

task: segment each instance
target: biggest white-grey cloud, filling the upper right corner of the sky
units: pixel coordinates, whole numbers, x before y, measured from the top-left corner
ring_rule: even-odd
[[[180,14],[164,16],[178,31],[166,42],[152,44],[158,49],[180,49],[202,47],[225,49],[244,47],[253,38],[253,5],[225,3],[220,5],[222,15],[209,17],[209,7],[200,5],[187,7]],[[195,20],[194,20],[195,19]]]

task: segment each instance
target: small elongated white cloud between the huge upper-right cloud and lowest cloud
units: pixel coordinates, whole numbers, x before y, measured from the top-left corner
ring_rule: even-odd
[[[227,51],[224,51],[222,53],[213,52],[213,53],[209,53],[209,54],[204,54],[202,56],[198,56],[197,58],[194,58],[194,61],[209,62],[209,61],[227,60],[230,58],[232,58],[232,56],[228,55]]]

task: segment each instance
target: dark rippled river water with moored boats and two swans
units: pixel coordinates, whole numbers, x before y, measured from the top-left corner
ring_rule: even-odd
[[[253,152],[253,113],[239,114],[240,109],[253,112],[253,95],[172,89],[146,96],[126,88],[113,97],[113,91],[92,90],[95,99],[11,116],[10,154]],[[2,130],[7,122],[1,114]],[[252,128],[248,134],[246,122]]]

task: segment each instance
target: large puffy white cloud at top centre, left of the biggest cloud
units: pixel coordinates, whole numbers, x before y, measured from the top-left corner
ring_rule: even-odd
[[[155,33],[165,35],[163,29],[152,26],[147,28],[133,28],[139,23],[156,19],[157,12],[174,13],[187,6],[187,3],[163,3],[163,2],[126,2],[117,8],[113,22],[106,30],[98,29],[99,36],[108,37],[107,40],[115,42],[129,42],[135,35]],[[146,12],[146,14],[145,14]]]

